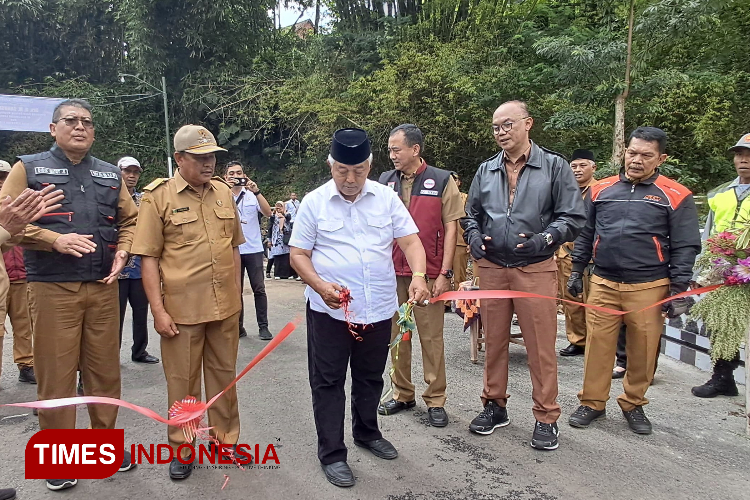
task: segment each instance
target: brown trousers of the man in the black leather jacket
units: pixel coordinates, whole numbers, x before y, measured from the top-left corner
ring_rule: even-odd
[[[525,267],[501,267],[485,259],[477,262],[482,290],[514,290],[557,297],[557,268],[553,259]],[[482,300],[481,315],[486,349],[482,402],[505,406],[508,394],[508,344],[515,311],[526,346],[531,372],[534,417],[554,423],[560,417],[557,404],[557,305],[548,299]]]

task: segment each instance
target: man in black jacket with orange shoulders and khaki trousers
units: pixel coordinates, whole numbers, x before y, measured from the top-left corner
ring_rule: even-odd
[[[678,316],[687,304],[685,299],[675,299],[662,308],[640,310],[687,290],[701,249],[692,193],[659,173],[667,159],[666,144],[663,130],[635,129],[625,152],[625,169],[602,179],[585,200],[588,221],[575,241],[568,290],[572,295],[581,293],[583,269],[593,258],[588,303],[638,312],[624,316],[587,312],[581,406],[570,416],[573,427],[588,427],[606,413],[617,334],[624,321],[628,370],[617,402],[633,432],[651,433],[643,406],[654,377],[662,313]]]

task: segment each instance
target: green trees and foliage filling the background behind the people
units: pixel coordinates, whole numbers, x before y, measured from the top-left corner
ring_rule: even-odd
[[[468,181],[497,152],[491,116],[510,99],[527,101],[539,144],[586,147],[598,175],[618,170],[606,160],[629,0],[326,5],[330,31],[300,39],[274,26],[276,2],[0,0],[0,88],[89,98],[94,154],[138,157],[148,182],[166,174],[162,102],[149,97],[163,75],[172,134],[204,124],[230,151],[220,163],[243,161],[271,199],[328,178],[330,136],[342,126],[371,134],[377,174],[390,168],[391,128],[416,123],[425,158]],[[735,175],[726,149],[750,131],[750,9],[746,0],[637,0],[635,11],[626,130],[664,128],[663,171],[704,192]],[[120,73],[148,84],[121,83]],[[49,143],[0,133],[0,156]]]

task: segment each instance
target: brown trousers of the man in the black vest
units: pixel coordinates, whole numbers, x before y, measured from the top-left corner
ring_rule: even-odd
[[[34,372],[40,400],[76,395],[120,397],[120,302],[117,283],[29,283]],[[113,429],[117,406],[89,405],[93,429]],[[39,410],[41,429],[74,429],[75,406]]]

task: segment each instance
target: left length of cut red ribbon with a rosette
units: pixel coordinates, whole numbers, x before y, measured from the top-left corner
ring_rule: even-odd
[[[213,405],[217,399],[219,399],[225,392],[227,392],[232,386],[234,386],[263,358],[268,356],[271,351],[276,349],[276,347],[280,343],[282,343],[289,336],[289,334],[294,331],[295,328],[297,328],[298,322],[299,318],[296,318],[291,323],[287,323],[287,325],[273,338],[273,340],[266,344],[263,350],[261,350],[255,356],[255,358],[253,358],[253,360],[248,363],[248,365],[235,377],[235,379],[223,391],[211,398],[208,403],[195,401],[194,398],[190,397],[186,398],[182,402],[175,402],[175,404],[170,409],[170,415],[173,415],[173,417],[169,419],[162,417],[149,408],[134,405],[121,399],[107,398],[102,396],[79,396],[75,398],[45,399],[44,401],[32,401],[29,403],[8,403],[0,406],[49,409],[62,408],[65,406],[73,406],[79,404],[108,404],[133,410],[136,413],[140,413],[141,415],[146,416],[152,420],[156,420],[157,422],[160,422],[162,424],[173,425],[177,427],[184,427],[186,425],[192,427],[200,422],[201,418],[206,413],[206,410],[208,410],[208,408],[211,407],[211,405]]]

